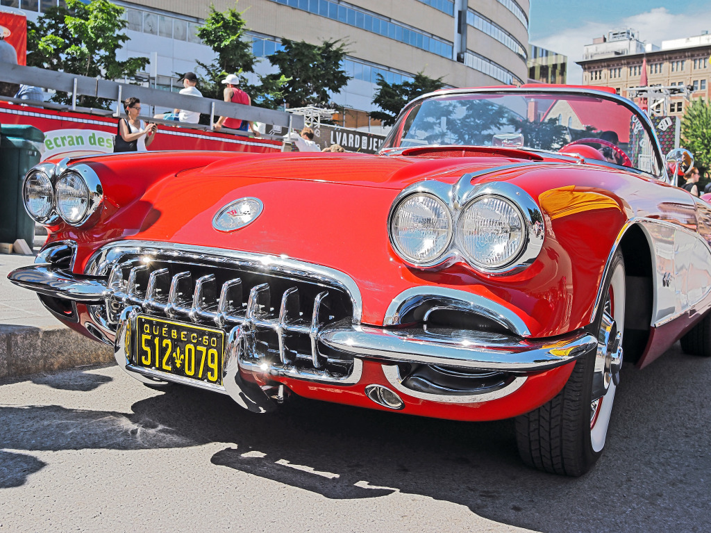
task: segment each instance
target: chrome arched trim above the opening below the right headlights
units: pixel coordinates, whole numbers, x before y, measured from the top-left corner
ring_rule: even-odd
[[[412,287],[400,292],[387,306],[383,325],[395,326],[400,324],[400,319],[405,313],[423,305],[428,300],[441,302],[442,306],[451,307],[454,310],[474,312],[489,318],[506,327],[518,337],[530,337],[531,335],[525,322],[508,307],[471,292],[438,287],[437,285]]]

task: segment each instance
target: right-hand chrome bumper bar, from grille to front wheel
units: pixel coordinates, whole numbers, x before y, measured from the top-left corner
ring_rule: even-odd
[[[552,369],[597,349],[597,339],[582,330],[555,338],[518,339],[474,331],[454,336],[417,328],[333,324],[324,328],[320,339],[326,346],[355,357],[508,372]]]

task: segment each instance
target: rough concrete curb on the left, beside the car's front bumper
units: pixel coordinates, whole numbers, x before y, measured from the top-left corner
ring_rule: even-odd
[[[0,324],[0,378],[113,361],[111,347],[62,324],[45,327]]]

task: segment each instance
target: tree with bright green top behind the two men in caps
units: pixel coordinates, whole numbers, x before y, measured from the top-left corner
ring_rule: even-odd
[[[247,83],[245,73],[255,71],[257,58],[252,53],[252,41],[245,38],[246,30],[242,12],[235,8],[217,11],[210,6],[210,15],[198,29],[198,37],[213,49],[216,57],[212,63],[198,61],[205,71],[205,75],[201,76],[201,93],[205,97],[222,100],[225,89],[222,80],[225,75],[236,74],[240,77],[240,87],[250,95],[252,103],[274,108],[282,99],[284,76],[272,76],[269,80],[258,76],[260,82],[256,85]]]

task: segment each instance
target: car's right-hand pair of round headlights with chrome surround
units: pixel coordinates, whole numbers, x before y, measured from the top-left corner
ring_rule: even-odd
[[[431,268],[463,258],[483,273],[504,274],[538,257],[543,218],[528,193],[506,182],[470,182],[424,181],[397,197],[388,230],[407,264]]]

